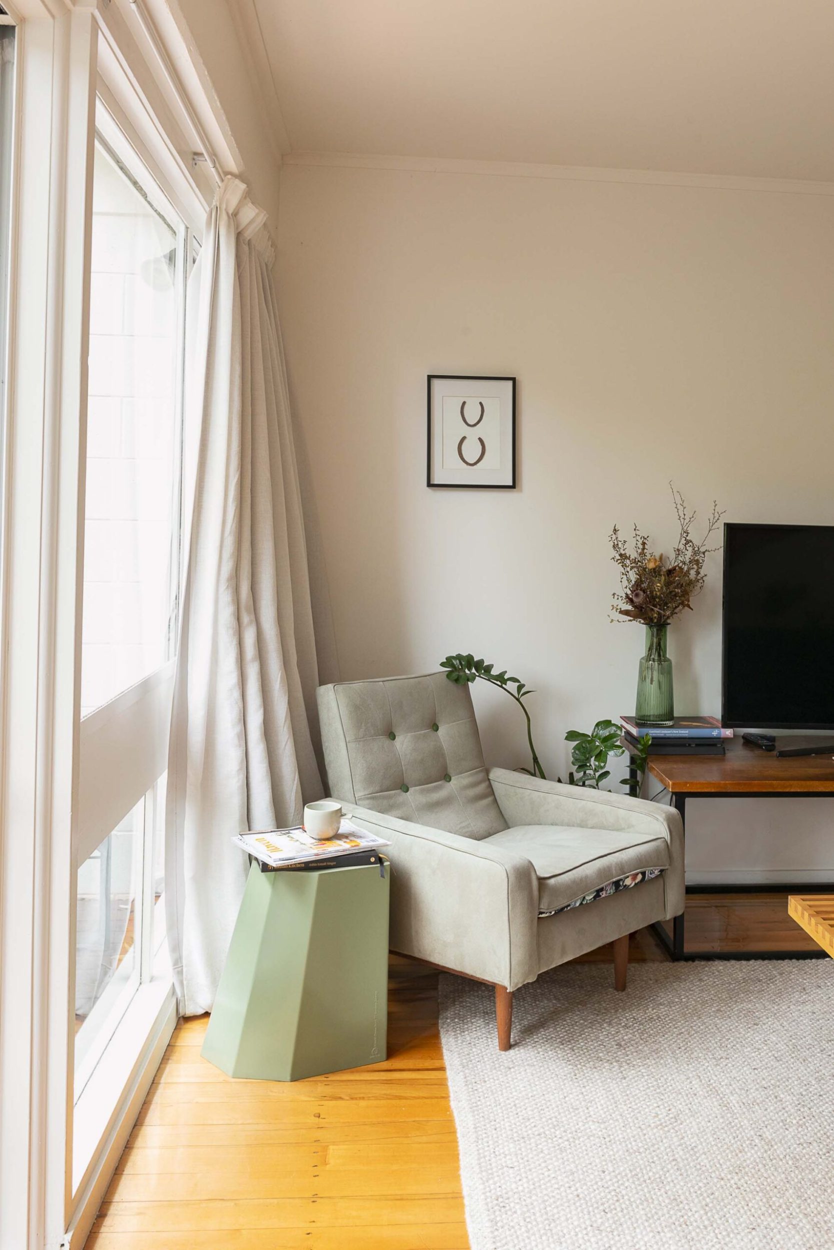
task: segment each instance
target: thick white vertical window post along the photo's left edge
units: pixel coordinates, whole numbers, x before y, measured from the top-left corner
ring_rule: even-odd
[[[9,9],[20,25],[0,672],[0,1245],[28,1250],[59,1245],[68,1210],[95,18],[49,0]],[[31,238],[39,248],[25,245]]]

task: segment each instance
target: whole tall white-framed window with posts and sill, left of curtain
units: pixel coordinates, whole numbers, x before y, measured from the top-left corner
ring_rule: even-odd
[[[21,1250],[83,1244],[176,1019],[163,832],[210,190],[126,16],[0,0],[0,1244]]]

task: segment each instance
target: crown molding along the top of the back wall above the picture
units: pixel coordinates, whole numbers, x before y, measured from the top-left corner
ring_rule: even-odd
[[[338,169],[408,170],[420,174],[468,174],[476,178],[540,178],[566,182],[631,182],[690,186],[716,191],[765,191],[776,195],[834,195],[834,182],[790,178],[740,178],[731,174],[675,174],[644,169],[593,169],[584,165],[528,165],[515,161],[455,160],[429,156],[376,156],[353,152],[286,152],[284,165]]]

